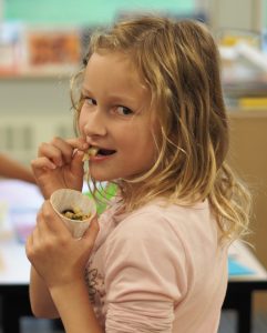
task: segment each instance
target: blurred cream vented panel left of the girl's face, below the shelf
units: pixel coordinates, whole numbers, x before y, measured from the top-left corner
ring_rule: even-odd
[[[28,164],[38,147],[74,135],[69,78],[0,78],[0,151]]]

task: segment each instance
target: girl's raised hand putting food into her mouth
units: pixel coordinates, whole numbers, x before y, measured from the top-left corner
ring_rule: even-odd
[[[32,171],[45,199],[58,189],[81,191],[83,184],[83,155],[89,144],[82,138],[54,138],[42,143],[38,158],[31,162]]]

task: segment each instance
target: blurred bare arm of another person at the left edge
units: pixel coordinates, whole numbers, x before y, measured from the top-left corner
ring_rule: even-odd
[[[19,179],[25,182],[34,183],[34,176],[30,170],[20,162],[0,154],[0,175],[4,178]]]

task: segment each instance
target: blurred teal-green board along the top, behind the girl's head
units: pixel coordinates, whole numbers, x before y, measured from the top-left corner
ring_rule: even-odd
[[[195,0],[3,0],[3,19],[25,23],[109,24],[126,11],[194,12]]]

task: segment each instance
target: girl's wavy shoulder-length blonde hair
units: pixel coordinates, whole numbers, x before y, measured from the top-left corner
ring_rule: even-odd
[[[152,94],[161,135],[154,167],[132,182],[117,181],[126,210],[156,196],[194,204],[208,199],[224,238],[247,232],[249,192],[226,163],[229,131],[219,75],[219,54],[206,27],[196,21],[140,17],[91,38],[93,52],[123,52]],[[79,117],[82,105],[76,105]],[[138,193],[136,193],[136,188]]]

